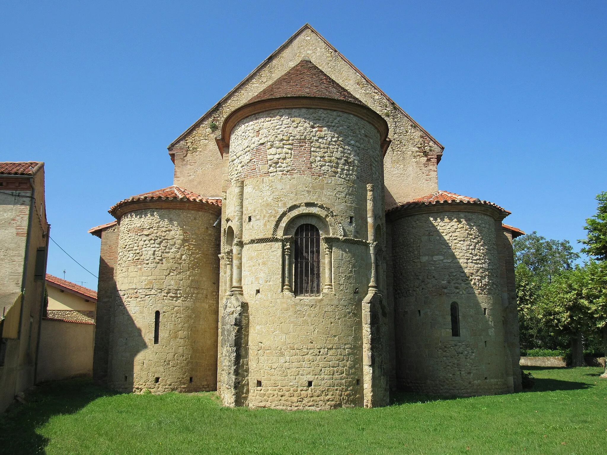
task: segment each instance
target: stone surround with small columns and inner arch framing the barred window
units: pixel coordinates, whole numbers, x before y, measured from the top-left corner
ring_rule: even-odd
[[[283,258],[283,286],[282,291],[294,293],[294,236],[297,229],[303,224],[312,224],[320,233],[320,254],[324,260],[320,260],[320,289],[323,292],[333,292],[333,244],[329,219],[327,212],[318,207],[298,207],[287,214],[279,224],[282,229],[279,233],[282,237]],[[339,225],[341,226],[341,224]]]

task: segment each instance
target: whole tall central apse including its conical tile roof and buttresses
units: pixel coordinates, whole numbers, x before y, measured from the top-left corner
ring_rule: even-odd
[[[306,59],[224,121],[226,405],[387,402],[377,266],[387,133],[380,115]]]

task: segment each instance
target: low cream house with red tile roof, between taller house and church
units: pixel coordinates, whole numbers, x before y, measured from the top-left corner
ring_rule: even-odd
[[[36,380],[91,376],[97,292],[49,274],[46,289]]]

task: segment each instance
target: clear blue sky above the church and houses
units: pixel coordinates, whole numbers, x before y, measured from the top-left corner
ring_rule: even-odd
[[[305,22],[445,146],[439,187],[579,246],[607,190],[607,2],[0,5],[0,160],[46,162],[51,236],[97,274],[117,201],[172,184],[166,146]],[[48,271],[96,288],[51,244]]]

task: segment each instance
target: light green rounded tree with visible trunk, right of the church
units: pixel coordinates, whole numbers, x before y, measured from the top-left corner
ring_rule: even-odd
[[[585,366],[583,336],[592,326],[594,288],[586,267],[575,266],[553,278],[541,291],[536,314],[551,335],[571,341],[571,365]]]

